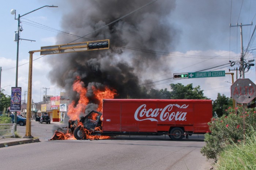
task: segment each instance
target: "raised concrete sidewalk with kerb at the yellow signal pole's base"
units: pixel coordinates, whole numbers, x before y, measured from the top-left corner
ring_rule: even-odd
[[[39,139],[28,138],[0,138],[0,147],[8,147],[14,145],[21,145],[25,143],[40,142]]]

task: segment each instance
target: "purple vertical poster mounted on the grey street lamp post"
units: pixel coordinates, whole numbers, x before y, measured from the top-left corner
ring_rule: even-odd
[[[21,111],[21,87],[12,87],[10,111]]]

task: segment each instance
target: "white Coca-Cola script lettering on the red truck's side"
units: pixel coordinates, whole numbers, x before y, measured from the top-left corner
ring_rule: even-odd
[[[171,120],[180,120],[184,121],[186,120],[187,112],[182,111],[172,111],[174,110],[174,107],[178,107],[180,109],[187,108],[189,105],[183,104],[168,104],[164,108],[149,108],[146,109],[146,104],[142,104],[137,108],[137,110],[134,113],[135,120],[143,121],[143,120],[151,120],[151,121],[158,121],[157,116],[160,114],[159,119],[161,121],[171,121]]]

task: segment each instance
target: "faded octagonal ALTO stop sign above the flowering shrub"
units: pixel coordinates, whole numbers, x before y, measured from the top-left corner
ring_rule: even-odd
[[[231,97],[237,103],[250,103],[255,96],[255,84],[250,79],[237,79],[231,85]]]

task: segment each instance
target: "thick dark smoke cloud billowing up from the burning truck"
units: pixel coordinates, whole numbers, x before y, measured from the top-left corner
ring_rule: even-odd
[[[84,36],[151,1],[68,1],[72,10],[63,16],[62,28],[72,35]],[[110,39],[110,49],[59,54],[49,58],[52,66],[49,72],[51,82],[72,93],[72,84],[76,76],[80,76],[85,87],[93,85],[98,89],[105,86],[115,89],[118,94],[116,98],[150,98],[145,89],[141,90],[140,84],[150,82],[149,79],[159,71],[170,72],[170,66],[165,64],[160,55],[140,49],[174,50],[179,30],[170,25],[168,20],[175,7],[174,0],[156,1],[86,36],[87,39],[75,41]],[[77,37],[59,34],[57,39],[57,44],[66,44]],[[75,98],[76,94],[72,97]]]

